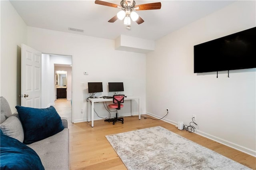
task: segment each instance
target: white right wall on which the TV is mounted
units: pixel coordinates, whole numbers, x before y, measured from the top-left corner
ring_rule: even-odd
[[[146,55],[146,111],[256,156],[256,69],[196,74],[193,47],[256,26],[255,1],[240,1],[156,42]],[[220,61],[221,62],[221,61]]]

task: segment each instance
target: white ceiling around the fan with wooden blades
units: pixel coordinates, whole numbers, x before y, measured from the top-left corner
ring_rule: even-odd
[[[131,30],[126,29],[120,20],[114,23],[108,22],[120,9],[94,4],[94,0],[11,0],[10,2],[28,26],[112,40],[121,34],[158,40],[234,1],[139,0],[136,1],[137,5],[161,2],[162,8],[137,11],[145,22],[140,25],[132,22]],[[120,1],[116,0],[106,2],[120,4]],[[84,32],[70,31],[69,27],[82,29]]]

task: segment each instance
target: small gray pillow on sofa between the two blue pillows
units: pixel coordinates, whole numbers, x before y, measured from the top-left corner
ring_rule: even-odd
[[[0,125],[0,128],[5,135],[23,142],[24,131],[18,115],[8,117],[6,121]]]

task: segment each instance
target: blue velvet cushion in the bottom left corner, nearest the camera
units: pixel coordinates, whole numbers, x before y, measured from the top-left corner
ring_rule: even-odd
[[[44,170],[33,149],[15,138],[0,134],[1,170]]]

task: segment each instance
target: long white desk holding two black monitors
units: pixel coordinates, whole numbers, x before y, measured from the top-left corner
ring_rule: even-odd
[[[138,100],[139,103],[139,119],[140,119],[140,97],[125,97],[124,100],[130,100],[131,101],[131,115],[133,113],[132,109],[132,100]],[[90,114],[92,114],[92,127],[94,126],[94,103],[95,102],[104,102],[104,101],[113,101],[113,99],[104,99],[104,98],[89,98],[88,99],[88,122],[90,122]],[[90,103],[92,103],[91,111],[90,111]]]

